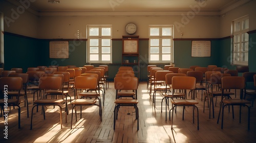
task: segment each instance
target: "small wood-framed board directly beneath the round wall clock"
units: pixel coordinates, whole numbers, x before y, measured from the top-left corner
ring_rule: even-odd
[[[123,40],[123,53],[138,53],[138,40]]]

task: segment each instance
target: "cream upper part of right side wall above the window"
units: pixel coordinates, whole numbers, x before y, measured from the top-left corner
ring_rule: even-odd
[[[249,31],[256,30],[256,1],[251,1],[239,8],[233,9],[220,18],[220,36],[226,37],[231,35],[231,22],[237,18],[249,15]]]

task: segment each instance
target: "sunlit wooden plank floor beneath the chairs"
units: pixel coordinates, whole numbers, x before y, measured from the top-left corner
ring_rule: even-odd
[[[71,105],[68,122],[65,123],[63,112],[63,128],[60,129],[58,107],[48,107],[46,120],[41,110],[34,111],[33,129],[30,130],[32,94],[29,93],[29,118],[26,107],[22,103],[21,129],[18,129],[17,110],[11,110],[8,116],[8,139],[4,138],[4,117],[0,119],[0,142],[255,142],[256,140],[256,107],[251,108],[251,129],[247,130],[247,108],[242,108],[242,122],[239,123],[239,108],[235,107],[235,118],[225,109],[224,129],[217,124],[219,104],[215,107],[215,118],[209,119],[209,109],[203,113],[201,93],[199,101],[199,126],[197,118],[195,124],[192,120],[192,108],[185,109],[185,119],[182,121],[182,107],[177,108],[174,115],[174,130],[171,130],[172,121],[165,121],[165,110],[161,113],[161,99],[157,93],[156,108],[148,95],[146,82],[140,82],[138,88],[139,130],[133,107],[121,107],[119,110],[116,129],[113,129],[113,110],[115,89],[113,82],[105,94],[105,104],[102,108],[102,122],[100,121],[98,107],[88,106],[82,109],[82,118],[71,126]],[[72,94],[73,98],[73,94]],[[219,103],[219,101],[218,101]],[[255,105],[255,104],[254,104]],[[40,108],[39,108],[40,109]],[[64,109],[64,108],[63,108]],[[195,115],[197,113],[195,112]],[[80,114],[78,115],[80,117]]]

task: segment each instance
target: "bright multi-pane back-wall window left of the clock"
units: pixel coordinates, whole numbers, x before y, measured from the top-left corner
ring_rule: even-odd
[[[112,63],[112,26],[88,26],[87,39],[87,62]]]

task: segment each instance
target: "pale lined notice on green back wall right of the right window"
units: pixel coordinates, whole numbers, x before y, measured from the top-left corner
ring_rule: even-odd
[[[210,41],[192,41],[191,57],[210,57]]]

